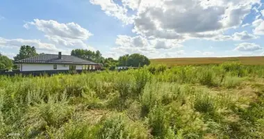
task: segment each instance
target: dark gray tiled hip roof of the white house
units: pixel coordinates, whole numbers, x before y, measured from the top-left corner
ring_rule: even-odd
[[[57,54],[42,54],[31,58],[17,60],[15,63],[97,65],[97,63],[83,60],[81,58],[77,58],[76,56],[62,55],[60,59]]]

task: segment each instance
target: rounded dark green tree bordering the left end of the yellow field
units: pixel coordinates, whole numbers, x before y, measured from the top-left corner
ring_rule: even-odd
[[[127,60],[127,66],[138,67],[149,65],[150,60],[141,54],[131,54]]]

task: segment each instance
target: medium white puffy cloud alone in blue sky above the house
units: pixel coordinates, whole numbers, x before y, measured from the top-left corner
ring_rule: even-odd
[[[56,44],[94,50],[84,42],[92,33],[74,22],[63,24],[54,20],[34,19],[34,22],[26,22],[24,27],[29,28],[29,25],[38,28],[44,33],[45,38]]]

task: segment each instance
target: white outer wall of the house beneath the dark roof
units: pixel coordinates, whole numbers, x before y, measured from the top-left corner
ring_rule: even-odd
[[[20,70],[22,72],[53,70],[53,64],[22,64]],[[69,70],[69,65],[57,65],[57,70]]]

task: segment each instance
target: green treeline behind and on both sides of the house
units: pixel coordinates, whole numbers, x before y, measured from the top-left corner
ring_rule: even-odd
[[[35,47],[28,45],[20,47],[19,54],[14,57],[14,60],[0,54],[0,70],[17,69],[17,65],[15,65],[16,60],[22,60],[24,58],[38,55],[40,54],[37,53]],[[90,60],[94,63],[101,63],[103,67],[109,69],[115,69],[117,66],[138,67],[150,64],[149,58],[141,54],[126,54],[120,56],[118,60],[115,60],[114,58],[104,58],[98,50],[90,51],[87,49],[73,49],[71,55],[84,60]]]

